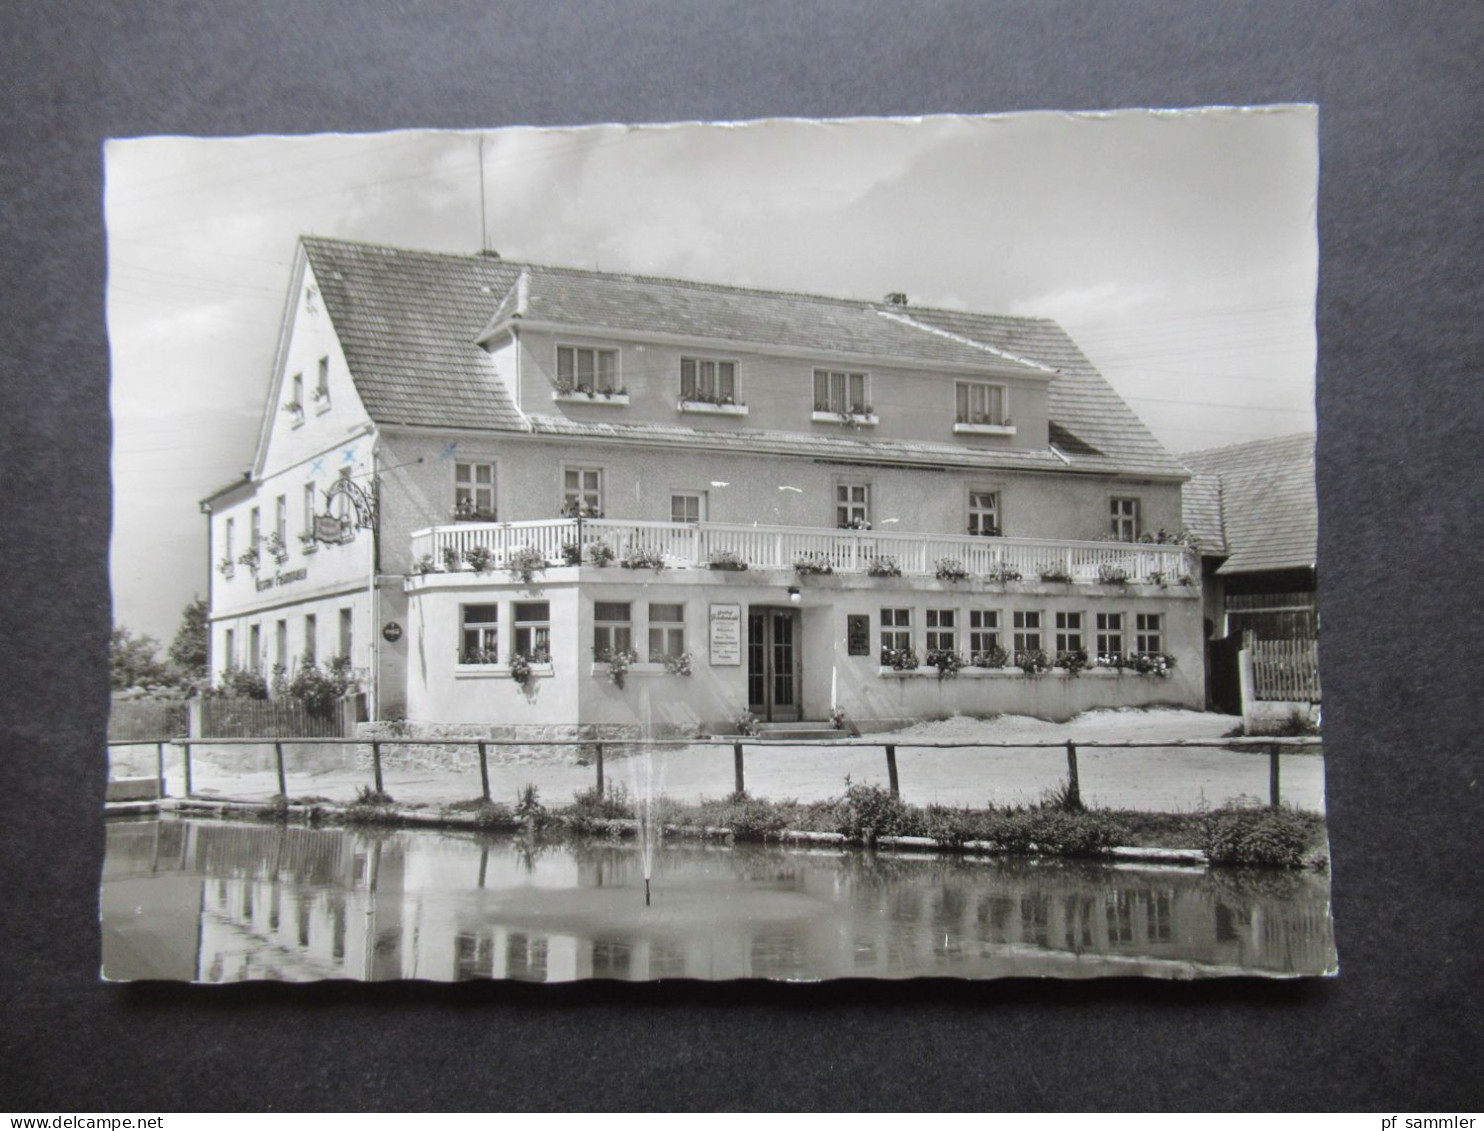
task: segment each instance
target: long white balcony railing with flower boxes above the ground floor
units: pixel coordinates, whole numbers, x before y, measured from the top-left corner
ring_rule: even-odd
[[[519,549],[536,549],[561,566],[564,546],[576,546],[577,521],[459,522],[413,534],[413,561],[421,571],[466,568],[466,551],[488,552],[488,568],[503,570]],[[668,568],[708,568],[729,554],[751,570],[792,570],[800,560],[831,573],[871,571],[873,561],[892,560],[902,576],[932,577],[941,558],[962,563],[971,577],[1061,582],[1066,585],[1181,583],[1199,577],[1195,551],[1143,542],[1067,542],[1054,539],[975,537],[965,534],[886,534],[873,530],[764,527],[727,522],[631,522],[614,518],[582,521],[583,561],[594,545],[613,551],[617,566],[631,554],[659,555]],[[824,571],[822,568],[815,571]],[[1018,577],[1017,577],[1018,574]]]

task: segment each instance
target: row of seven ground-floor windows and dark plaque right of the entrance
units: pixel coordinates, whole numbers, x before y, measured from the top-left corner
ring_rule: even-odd
[[[914,616],[920,614],[920,622]],[[846,623],[852,656],[870,655],[870,626],[853,616]],[[1162,656],[1163,613],[1046,613],[1021,609],[1008,617],[999,609],[881,609],[880,662],[908,669],[920,663],[1003,668],[1034,665],[1125,666],[1131,658]],[[919,652],[920,649],[920,652]]]

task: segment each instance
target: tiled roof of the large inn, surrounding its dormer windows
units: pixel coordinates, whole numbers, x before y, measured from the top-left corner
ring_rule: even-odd
[[[519,315],[616,334],[672,334],[809,355],[838,352],[1015,371],[1049,380],[1055,453],[979,453],[962,445],[870,438],[831,439],[828,447],[864,459],[881,457],[890,448],[895,456],[984,466],[1186,475],[1051,319],[902,307],[310,236],[303,246],[356,390],[378,423],[552,433],[591,429],[556,417],[527,419],[500,384],[478,343]],[[692,432],[644,424],[603,430],[638,441],[680,439]],[[800,441],[821,447],[818,436],[804,433],[703,433],[708,444],[723,442],[723,435],[735,436],[724,442],[736,448],[784,451]]]

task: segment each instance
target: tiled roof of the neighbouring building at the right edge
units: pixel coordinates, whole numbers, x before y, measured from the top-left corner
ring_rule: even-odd
[[[1186,525],[1202,554],[1226,554],[1217,573],[1313,568],[1319,536],[1313,433],[1257,439],[1181,456]]]

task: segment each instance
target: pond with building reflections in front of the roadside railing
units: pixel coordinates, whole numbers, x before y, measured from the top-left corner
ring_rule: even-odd
[[[110,821],[108,980],[914,978],[1333,969],[1328,877],[211,819]]]

